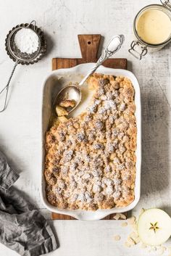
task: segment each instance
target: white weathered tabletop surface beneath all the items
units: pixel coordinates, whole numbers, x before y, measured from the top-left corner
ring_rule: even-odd
[[[158,1],[159,2],[159,1]],[[7,154],[11,165],[20,173],[16,185],[29,195],[37,207],[43,209],[39,195],[41,175],[41,86],[43,77],[51,70],[52,57],[80,57],[77,35],[101,33],[104,44],[114,34],[123,33],[125,44],[117,57],[128,58],[128,68],[135,73],[141,85],[143,117],[143,162],[141,200],[133,210],[141,207],[162,207],[171,215],[170,180],[170,45],[151,54],[141,62],[128,54],[133,38],[132,23],[141,7],[153,0],[0,0],[0,88],[14,63],[6,54],[4,40],[8,31],[17,24],[36,20],[48,36],[48,54],[34,66],[18,66],[9,91],[9,104],[0,114],[0,149]],[[0,98],[1,102],[1,98]],[[154,252],[123,246],[129,228],[120,221],[55,220],[60,247],[49,255],[154,255]],[[121,241],[112,239],[114,234]],[[15,252],[0,244],[1,255]],[[167,253],[164,253],[167,255]]]

